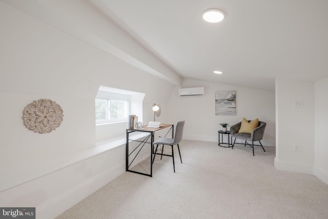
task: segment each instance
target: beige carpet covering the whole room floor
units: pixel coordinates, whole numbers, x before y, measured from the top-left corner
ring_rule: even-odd
[[[125,172],[62,218],[328,218],[328,186],[313,175],[279,171],[275,148],[180,143],[156,156],[153,177]],[[165,152],[170,151],[165,148]]]

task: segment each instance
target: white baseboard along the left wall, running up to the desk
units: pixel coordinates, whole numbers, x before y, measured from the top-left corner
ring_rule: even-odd
[[[125,162],[122,162],[40,206],[36,209],[36,218],[55,218],[124,172]]]

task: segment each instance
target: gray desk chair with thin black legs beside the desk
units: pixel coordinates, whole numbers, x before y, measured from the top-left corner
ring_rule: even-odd
[[[155,156],[156,156],[156,151],[157,151],[158,145],[163,145],[163,147],[162,147],[162,153],[160,155],[160,160],[162,160],[164,145],[170,145],[172,147],[172,155],[168,155],[168,154],[164,154],[164,155],[166,155],[166,156],[172,156],[172,159],[173,159],[173,170],[175,172],[173,146],[174,145],[177,145],[178,146],[178,150],[179,150],[179,155],[180,155],[180,161],[181,161],[181,164],[182,164],[182,159],[181,159],[181,154],[180,154],[180,149],[179,149],[179,143],[180,143],[180,141],[182,139],[183,126],[185,126],[185,121],[180,121],[180,122],[178,122],[176,124],[174,138],[161,138],[161,139],[159,139],[159,140],[157,140],[157,141],[155,141],[153,143],[153,145],[156,145],[153,163],[154,163],[154,160],[155,160]]]

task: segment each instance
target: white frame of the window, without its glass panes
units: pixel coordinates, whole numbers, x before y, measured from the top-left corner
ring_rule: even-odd
[[[108,112],[107,112],[107,118],[105,120],[96,120],[96,124],[108,124],[108,123],[117,123],[117,122],[127,122],[129,121],[129,109],[130,109],[130,95],[124,94],[124,93],[115,93],[115,92],[109,92],[109,91],[103,91],[99,90],[96,99],[107,99],[108,103]],[[125,107],[125,115],[124,118],[115,118],[111,119],[108,118],[110,115],[110,101],[126,101],[127,106]]]

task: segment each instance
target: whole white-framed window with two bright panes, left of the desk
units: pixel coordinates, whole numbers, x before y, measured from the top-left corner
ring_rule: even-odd
[[[130,95],[98,91],[95,99],[96,124],[129,120]]]

